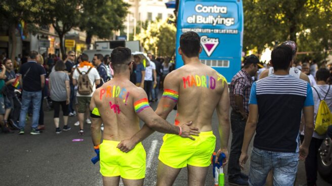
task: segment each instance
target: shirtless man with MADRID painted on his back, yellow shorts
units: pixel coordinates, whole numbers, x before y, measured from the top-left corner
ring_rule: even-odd
[[[229,95],[226,79],[217,71],[199,61],[200,37],[195,32],[181,35],[179,54],[184,66],[169,73],[164,80],[164,92],[155,111],[162,118],[178,104],[175,125],[192,121],[200,130],[195,141],[173,134],[163,137],[159,153],[157,185],[172,185],[181,168],[188,167],[188,185],[204,185],[216,148],[216,136],[212,132],[212,115],[217,109],[221,149],[227,156],[229,137]],[[153,132],[148,126],[119,146],[131,150]],[[131,152],[131,151],[130,151]],[[218,160],[218,157],[216,158]],[[226,161],[224,162],[226,163]]]

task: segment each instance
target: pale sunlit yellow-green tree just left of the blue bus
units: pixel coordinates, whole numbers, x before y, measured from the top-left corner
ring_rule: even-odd
[[[176,27],[164,21],[150,22],[146,29],[134,37],[140,40],[145,51],[155,52],[158,56],[172,56],[175,51]]]

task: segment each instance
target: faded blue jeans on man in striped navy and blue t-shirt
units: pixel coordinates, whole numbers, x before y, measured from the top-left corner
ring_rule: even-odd
[[[293,186],[298,171],[299,153],[282,153],[253,148],[249,185],[264,185],[269,171],[273,170],[273,185]]]

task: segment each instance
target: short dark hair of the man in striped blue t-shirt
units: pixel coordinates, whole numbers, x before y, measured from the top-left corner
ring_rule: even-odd
[[[293,59],[292,48],[281,44],[273,49],[271,61],[274,70],[286,70]]]

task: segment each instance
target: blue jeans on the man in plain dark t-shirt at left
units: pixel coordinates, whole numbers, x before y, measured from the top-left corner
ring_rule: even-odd
[[[20,113],[20,129],[24,129],[25,127],[25,117],[28,112],[28,108],[32,102],[33,105],[33,115],[32,115],[32,123],[31,127],[37,129],[38,120],[39,120],[39,110],[40,110],[40,102],[41,102],[41,91],[25,91],[22,92],[22,107]]]

